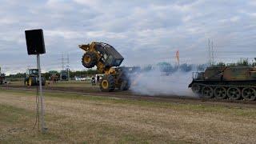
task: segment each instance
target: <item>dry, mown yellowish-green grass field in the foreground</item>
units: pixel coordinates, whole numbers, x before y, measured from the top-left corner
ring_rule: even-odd
[[[250,107],[46,93],[46,134],[32,130],[34,93],[0,92],[0,143],[255,143]]]

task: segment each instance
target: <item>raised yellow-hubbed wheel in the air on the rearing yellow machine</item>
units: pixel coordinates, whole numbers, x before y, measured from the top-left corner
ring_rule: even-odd
[[[82,56],[82,65],[85,66],[86,68],[92,68],[96,65],[97,63],[97,57],[96,54],[93,52],[86,52],[86,54],[83,54]]]

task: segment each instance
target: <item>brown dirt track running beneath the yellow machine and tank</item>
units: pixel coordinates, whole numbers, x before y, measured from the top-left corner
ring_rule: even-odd
[[[1,86],[5,90],[26,90],[26,91],[35,91],[37,87],[26,87],[26,86]],[[222,106],[238,106],[238,107],[255,107],[256,101],[247,102],[247,101],[232,101],[230,99],[202,99],[198,97],[189,97],[189,96],[177,96],[177,95],[141,95],[134,94],[131,91],[115,91],[115,92],[102,92],[97,88],[89,89],[82,87],[43,87],[46,92],[65,92],[66,94],[82,94],[82,95],[93,95],[93,96],[104,96],[111,98],[127,98],[127,99],[137,99],[144,101],[153,101],[153,102],[176,102],[176,103],[192,103],[192,104],[206,104],[206,105],[222,105]]]

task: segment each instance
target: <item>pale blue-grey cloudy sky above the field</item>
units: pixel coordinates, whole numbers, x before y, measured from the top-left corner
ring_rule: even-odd
[[[27,55],[25,30],[42,29],[42,71],[86,70],[79,44],[106,42],[122,66],[158,62],[202,64],[256,57],[256,1],[241,0],[0,0],[0,66],[6,74],[36,67]],[[66,61],[65,61],[66,62]]]

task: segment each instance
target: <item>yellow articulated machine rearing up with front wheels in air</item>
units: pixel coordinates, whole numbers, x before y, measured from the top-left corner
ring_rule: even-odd
[[[103,42],[91,42],[79,47],[85,51],[82,65],[86,68],[97,66],[98,73],[104,74],[100,82],[102,91],[129,90],[130,78],[124,67],[119,67],[123,57],[113,46]]]

